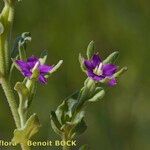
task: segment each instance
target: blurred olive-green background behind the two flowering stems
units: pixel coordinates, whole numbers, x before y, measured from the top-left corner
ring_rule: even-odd
[[[84,54],[87,44],[94,40],[102,58],[119,50],[117,63],[129,70],[103,101],[87,108],[88,130],[77,139],[78,146],[88,144],[89,150],[150,150],[149,6],[146,0],[22,0],[17,4],[13,40],[30,31],[29,56],[47,49],[49,64],[64,60],[48,84],[39,85],[30,108],[42,123],[36,140],[59,138],[51,129],[50,111],[82,87],[86,76],[79,67],[78,54]],[[22,80],[18,71],[13,77]],[[14,128],[0,90],[0,138],[11,139]]]

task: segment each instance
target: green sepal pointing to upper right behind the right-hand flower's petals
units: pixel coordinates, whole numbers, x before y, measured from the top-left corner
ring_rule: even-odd
[[[116,52],[113,52],[112,54],[110,54],[104,61],[103,63],[104,64],[111,64],[111,63],[114,63],[116,61],[116,59],[118,58],[119,56],[119,52],[116,51]]]

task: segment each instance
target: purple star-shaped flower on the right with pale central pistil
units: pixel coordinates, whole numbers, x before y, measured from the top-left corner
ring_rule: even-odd
[[[84,65],[87,69],[87,75],[95,81],[108,79],[108,84],[114,86],[117,84],[113,75],[118,67],[114,64],[103,64],[98,54],[94,54],[90,60],[84,60]]]

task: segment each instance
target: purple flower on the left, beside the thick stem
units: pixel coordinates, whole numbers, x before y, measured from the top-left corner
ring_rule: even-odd
[[[27,61],[16,60],[15,62],[19,66],[21,73],[27,78],[32,77],[33,70],[36,67],[38,70],[38,81],[42,84],[47,83],[47,78],[45,75],[47,75],[53,69],[53,66],[42,64],[40,59],[35,56],[31,56],[27,59]]]

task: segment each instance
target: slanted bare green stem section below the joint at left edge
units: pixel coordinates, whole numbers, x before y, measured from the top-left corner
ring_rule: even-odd
[[[11,109],[13,118],[15,120],[16,127],[20,128],[20,119],[19,119],[19,114],[17,111],[17,104],[16,104],[13,90],[10,86],[10,83],[5,78],[2,78],[1,79],[1,85],[2,85],[2,88],[3,88],[4,93],[6,95],[6,98],[7,98],[9,107]]]

